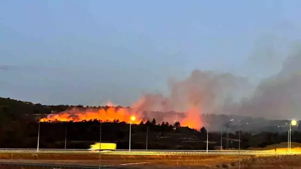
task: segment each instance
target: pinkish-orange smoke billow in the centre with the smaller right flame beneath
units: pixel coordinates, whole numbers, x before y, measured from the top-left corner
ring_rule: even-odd
[[[170,82],[169,96],[146,94],[132,105],[135,112],[146,112],[148,118],[164,121],[180,121],[183,126],[198,128],[204,125],[201,113],[220,113],[229,99],[237,97],[237,91],[247,80],[230,73],[195,70],[182,81]],[[156,115],[152,111],[161,111]],[[183,119],[168,111],[185,112]],[[148,113],[147,113],[148,112]],[[159,116],[159,117],[158,117]]]

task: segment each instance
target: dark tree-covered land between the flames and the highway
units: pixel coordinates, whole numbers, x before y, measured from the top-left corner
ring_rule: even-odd
[[[22,102],[10,98],[0,98],[0,148],[37,148],[39,116],[34,114],[64,111],[72,106],[46,106]],[[74,107],[74,106],[73,106]],[[76,107],[82,107],[78,105]],[[128,149],[129,124],[115,120],[102,122],[89,120],[82,122],[41,122],[39,148],[64,148],[67,131],[67,148],[89,148],[99,142],[101,124],[101,142],[116,142],[117,149]],[[179,122],[158,124],[156,119],[132,124],[131,148],[146,148],[148,128],[148,149],[206,149],[207,130],[182,127]],[[219,148],[220,132],[210,132],[209,149]],[[223,147],[227,147],[226,133],[223,133]],[[229,148],[238,147],[239,132],[229,133]],[[286,132],[241,132],[241,148],[265,147],[286,142]],[[293,142],[301,142],[301,132],[293,131]],[[286,145],[286,144],[285,144]]]

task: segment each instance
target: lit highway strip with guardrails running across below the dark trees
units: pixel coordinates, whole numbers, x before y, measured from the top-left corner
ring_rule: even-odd
[[[0,153],[99,153],[87,149],[0,149]],[[111,150],[101,154],[116,155],[294,155],[301,151],[260,151],[260,150]]]

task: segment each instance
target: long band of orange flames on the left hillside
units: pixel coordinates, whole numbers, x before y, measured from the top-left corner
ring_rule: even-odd
[[[46,118],[42,118],[40,121],[51,122],[51,121],[74,121],[79,122],[83,120],[101,120],[101,121],[125,121],[127,123],[138,124],[142,118],[138,113],[131,113],[130,110],[126,108],[114,108],[109,107],[108,109],[71,109],[69,111],[64,111],[59,114],[48,115]]]

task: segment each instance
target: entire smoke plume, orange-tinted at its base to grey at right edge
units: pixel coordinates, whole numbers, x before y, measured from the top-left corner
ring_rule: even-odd
[[[155,115],[150,112],[146,115],[166,121],[177,120],[184,126],[194,127],[210,123],[210,119],[202,119],[203,113],[300,119],[301,50],[298,47],[287,55],[278,73],[269,72],[274,75],[263,78],[251,89],[248,78],[195,70],[187,79],[171,81],[168,96],[146,94],[132,107],[136,111],[185,112],[185,118],[174,113]]]

